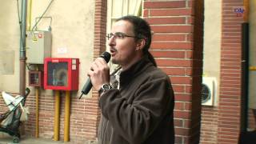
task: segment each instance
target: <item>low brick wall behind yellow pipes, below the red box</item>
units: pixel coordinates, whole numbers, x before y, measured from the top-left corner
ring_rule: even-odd
[[[54,135],[54,94],[39,96],[39,138],[53,138]],[[64,104],[65,92],[61,92],[61,111],[59,140],[63,141],[64,135]],[[99,115],[97,98],[78,99],[73,94],[70,102],[70,142],[81,143],[86,140],[95,140],[97,119]],[[35,96],[30,94],[26,100],[30,107],[30,116],[25,126],[25,134],[34,137],[35,134]]]

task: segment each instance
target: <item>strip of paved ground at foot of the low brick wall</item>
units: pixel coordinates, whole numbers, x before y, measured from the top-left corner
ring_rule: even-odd
[[[70,144],[70,142],[54,141],[51,139],[44,139],[44,138],[29,138],[29,137],[21,138],[19,143],[20,144],[60,144],[60,143]],[[13,138],[11,137],[0,138],[0,144],[13,144]]]

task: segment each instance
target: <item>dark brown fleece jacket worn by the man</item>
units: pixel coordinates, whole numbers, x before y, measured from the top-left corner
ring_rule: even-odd
[[[174,91],[170,78],[147,57],[120,74],[99,100],[100,144],[174,143]]]

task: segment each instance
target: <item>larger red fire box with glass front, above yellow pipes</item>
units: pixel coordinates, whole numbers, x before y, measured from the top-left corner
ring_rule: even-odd
[[[78,75],[78,58],[45,58],[45,89],[78,90]]]

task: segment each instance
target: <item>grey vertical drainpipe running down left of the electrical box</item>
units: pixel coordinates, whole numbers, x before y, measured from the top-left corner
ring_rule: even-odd
[[[20,36],[20,76],[19,76],[19,93],[24,96],[26,88],[26,3],[22,0],[22,23]]]

